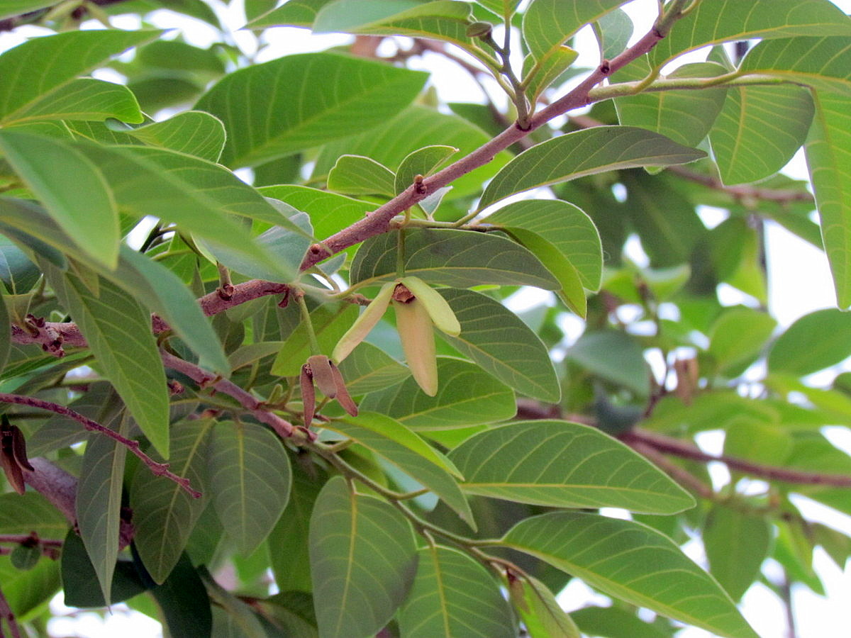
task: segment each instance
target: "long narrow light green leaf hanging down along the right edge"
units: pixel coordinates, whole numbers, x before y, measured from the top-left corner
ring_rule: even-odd
[[[831,265],[837,305],[851,305],[851,114],[848,98],[817,91],[815,117],[805,150],[819,207],[821,236]]]

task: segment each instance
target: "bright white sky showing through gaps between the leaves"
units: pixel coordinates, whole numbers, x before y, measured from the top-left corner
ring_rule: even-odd
[[[831,1],[846,13],[851,13],[851,0]],[[238,5],[239,3],[235,4]],[[634,2],[625,5],[624,9],[636,23],[636,35],[633,37],[633,40],[636,40],[652,25],[656,2],[655,0],[634,0]],[[234,41],[243,48],[243,51],[246,54],[254,54],[253,38],[247,33],[237,31],[243,24],[241,10],[233,7],[226,11],[220,11],[220,17],[227,26],[235,31],[233,34]],[[168,11],[157,14],[152,21],[161,28],[181,28],[186,40],[197,46],[206,47],[218,39],[211,27],[197,20],[185,19]],[[113,20],[113,26],[132,29],[139,26],[139,21],[134,18],[118,19]],[[98,28],[98,26],[93,25],[93,28]],[[20,29],[18,33],[2,34],[0,35],[0,51],[22,42],[25,36],[40,35],[43,32],[45,31],[35,27],[25,27]],[[349,42],[350,38],[338,35],[313,36],[306,30],[282,28],[270,31],[267,40],[268,42],[261,44],[260,54],[256,56],[256,60],[259,62],[272,60],[285,54],[323,50],[329,46]],[[586,28],[584,31],[580,31],[576,48],[580,50],[578,65],[595,66],[597,64],[597,45],[590,29]],[[705,51],[698,51],[690,54],[688,61],[704,58]],[[461,71],[453,63],[437,54],[426,54],[420,60],[413,59],[411,66],[432,72],[431,83],[437,88],[442,100],[482,100],[481,92],[472,85],[465,71]],[[108,72],[101,77],[103,79],[114,79],[114,77],[109,77]],[[493,87],[494,90],[491,94],[498,99],[499,90],[495,88],[495,83]],[[796,178],[807,177],[807,168],[801,153],[792,160],[785,172]],[[773,222],[767,222],[766,231],[769,304],[780,325],[788,326],[799,316],[812,310],[834,306],[836,299],[825,254]],[[640,255],[638,256],[640,257]],[[523,303],[523,301],[532,300],[529,298],[518,299],[518,302]],[[739,301],[740,298],[736,297],[734,293],[730,294],[729,303],[738,303]],[[577,322],[578,325],[580,324]],[[848,366],[846,362],[843,369],[851,369],[851,366]],[[827,381],[829,379],[828,377]],[[827,434],[833,441],[842,445],[844,449],[851,450],[851,432],[847,428],[831,428],[830,430]],[[700,440],[700,443],[708,452],[719,453],[722,447],[722,438],[711,435],[705,436]],[[726,482],[726,470],[724,468],[713,468],[713,470],[714,480],[721,484]],[[807,499],[800,499],[797,504],[809,519],[824,521],[845,533],[851,534],[851,517],[838,515],[833,510]],[[611,514],[620,516],[617,511],[613,511]],[[702,555],[700,544],[690,544],[687,551],[694,560],[705,566],[705,557]],[[845,572],[838,570],[825,552],[820,549],[815,552],[814,567],[825,583],[827,595],[822,598],[814,595],[803,586],[797,586],[793,590],[793,607],[798,624],[798,638],[847,638],[849,635],[848,601],[851,601],[851,570],[846,569]],[[772,565],[771,561],[768,561],[764,571],[768,573],[769,577],[776,577],[780,572],[779,567],[776,564]],[[574,580],[568,586],[568,589],[559,596],[559,601],[568,610],[583,607],[589,603],[608,604],[608,599],[595,594],[577,580]],[[84,638],[111,638],[115,635],[126,635],[128,638],[148,638],[161,635],[158,624],[151,621],[150,618],[136,612],[128,615],[121,607],[113,606],[114,613],[106,620],[89,612],[77,613],[74,619],[56,619],[52,621],[50,630],[54,635],[77,635]],[[782,638],[785,636],[785,612],[780,601],[767,587],[762,584],[751,587],[751,590],[745,595],[742,608],[745,617],[763,638]],[[59,596],[54,601],[54,611],[63,613],[76,610],[63,607]],[[649,614],[648,618],[652,618],[652,614]],[[710,634],[694,628],[683,629],[678,634],[679,638],[705,638],[707,636],[710,636]]]

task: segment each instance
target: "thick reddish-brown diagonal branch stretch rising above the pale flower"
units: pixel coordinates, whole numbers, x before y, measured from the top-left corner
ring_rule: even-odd
[[[528,128],[519,128],[517,123],[512,124],[492,140],[480,146],[476,151],[472,151],[466,157],[462,157],[447,168],[443,168],[438,173],[424,179],[417,189],[414,189],[414,185],[408,186],[407,190],[374,210],[366,218],[328,237],[324,242],[314,244],[302,261],[301,270],[304,271],[323,259],[327,259],[334,253],[339,253],[341,250],[363,242],[369,237],[386,232],[390,227],[391,219],[397,214],[403,213],[406,209],[414,206],[415,203],[420,202],[462,175],[469,173],[474,168],[487,164],[497,153],[504,151],[512,144],[522,140],[526,135],[534,131],[535,128],[540,128],[552,118],[563,115],[580,106],[590,104],[592,101],[589,96],[591,88],[603,82],[614,71],[618,71],[632,60],[636,60],[643,54],[648,53],[663,37],[665,37],[664,34],[654,26],[637,43],[626,49],[622,54],[614,58],[614,60],[609,60],[607,64],[598,66],[597,69],[591,71],[591,74],[582,83],[569,91],[568,94],[565,94],[562,98],[531,117]]]

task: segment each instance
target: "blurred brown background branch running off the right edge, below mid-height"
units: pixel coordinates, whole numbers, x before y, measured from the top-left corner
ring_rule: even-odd
[[[798,483],[802,485],[825,485],[831,487],[851,487],[851,476],[839,474],[820,474],[817,472],[805,472],[802,470],[790,470],[787,468],[775,467],[774,465],[762,465],[751,463],[745,459],[738,459],[726,454],[715,456],[707,454],[698,447],[686,441],[680,441],[671,436],[654,434],[646,430],[630,430],[620,435],[620,440],[628,445],[641,443],[665,454],[678,456],[682,459],[692,459],[701,463],[711,463],[717,461],[727,465],[730,470],[737,470],[750,474],[751,476],[759,476],[760,478],[769,479],[771,481],[785,481],[787,483]]]

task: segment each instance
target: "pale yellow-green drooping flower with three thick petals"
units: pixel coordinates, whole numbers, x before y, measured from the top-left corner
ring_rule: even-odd
[[[382,286],[334,348],[334,361],[341,362],[349,356],[384,316],[389,305],[396,312],[396,328],[414,380],[428,396],[435,396],[437,356],[432,328],[457,337],[461,326],[446,299],[419,277],[400,277]]]

